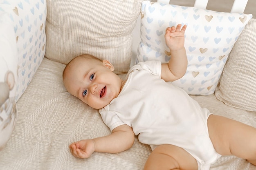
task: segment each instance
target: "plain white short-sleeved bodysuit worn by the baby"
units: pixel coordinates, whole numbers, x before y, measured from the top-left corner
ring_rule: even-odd
[[[209,170],[220,157],[209,138],[211,113],[181,88],[161,79],[161,68],[159,61],[133,66],[118,97],[99,110],[101,117],[111,131],[123,124],[132,127],[139,141],[152,150],[161,144],[184,148],[200,170]]]

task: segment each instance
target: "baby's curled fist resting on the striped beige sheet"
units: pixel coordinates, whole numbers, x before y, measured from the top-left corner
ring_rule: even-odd
[[[89,158],[95,151],[94,141],[92,139],[85,139],[74,142],[70,145],[72,155],[78,158]]]

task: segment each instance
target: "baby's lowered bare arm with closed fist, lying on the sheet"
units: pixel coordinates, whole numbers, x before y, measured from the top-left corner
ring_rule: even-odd
[[[89,158],[93,152],[118,153],[132,147],[134,132],[128,125],[121,125],[105,137],[85,139],[70,145],[72,155],[78,158]]]

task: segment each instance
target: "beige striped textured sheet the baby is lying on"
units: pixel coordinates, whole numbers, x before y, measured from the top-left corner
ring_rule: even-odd
[[[93,153],[77,159],[69,151],[74,141],[110,134],[97,110],[83,104],[62,82],[64,64],[44,58],[27,91],[18,100],[18,119],[0,151],[0,170],[142,170],[150,147],[135,144],[118,154]],[[256,127],[256,113],[231,108],[214,95],[192,96],[212,113]],[[211,170],[256,170],[244,159],[221,157]]]

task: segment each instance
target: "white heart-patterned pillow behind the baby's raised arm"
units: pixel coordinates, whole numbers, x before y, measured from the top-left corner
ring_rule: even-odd
[[[184,77],[172,83],[192,95],[212,94],[234,43],[251,18],[251,14],[142,2],[137,62],[168,62],[171,56],[165,44],[165,30],[186,24],[184,46],[188,67]]]

